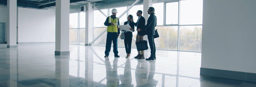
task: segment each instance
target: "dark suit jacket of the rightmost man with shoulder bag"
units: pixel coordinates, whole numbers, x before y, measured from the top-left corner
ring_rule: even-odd
[[[157,26],[157,17],[151,14],[147,19],[147,25],[144,27],[146,29],[146,35],[155,35],[155,27]]]

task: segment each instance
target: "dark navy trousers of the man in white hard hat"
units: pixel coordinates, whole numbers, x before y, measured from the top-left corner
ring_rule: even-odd
[[[107,41],[106,41],[106,50],[105,50],[105,55],[109,56],[109,52],[111,50],[111,44],[113,41],[113,52],[115,55],[118,55],[118,50],[117,50],[117,32],[108,32],[107,33]]]

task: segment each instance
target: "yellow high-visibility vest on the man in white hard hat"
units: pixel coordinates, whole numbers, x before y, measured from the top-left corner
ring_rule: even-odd
[[[111,16],[109,16],[109,23],[114,23],[115,25],[110,25],[107,28],[107,32],[118,32],[118,17],[116,17],[114,20],[111,18]]]

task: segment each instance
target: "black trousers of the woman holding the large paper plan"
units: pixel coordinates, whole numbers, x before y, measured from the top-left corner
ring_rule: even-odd
[[[128,54],[131,54],[131,40],[132,40],[131,33],[132,32],[125,32],[125,51]]]

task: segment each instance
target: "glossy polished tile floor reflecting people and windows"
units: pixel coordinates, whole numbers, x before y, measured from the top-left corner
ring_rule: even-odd
[[[256,87],[256,83],[200,76],[201,53],[157,50],[157,60],[125,58],[118,48],[104,58],[103,46],[70,45],[55,56],[54,44],[0,44],[0,87]],[[113,48],[112,48],[113,49]],[[150,51],[145,51],[148,57]]]

